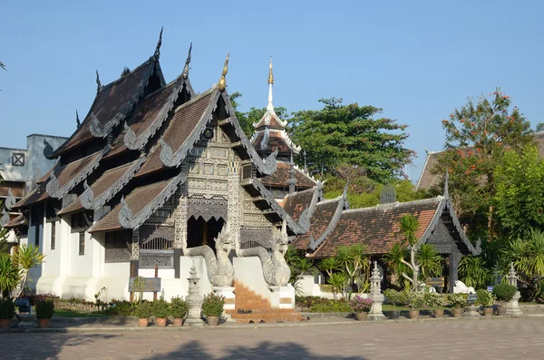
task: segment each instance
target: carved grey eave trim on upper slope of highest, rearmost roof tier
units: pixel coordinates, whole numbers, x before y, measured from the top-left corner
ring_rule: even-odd
[[[94,136],[95,138],[105,138],[110,133],[110,131],[112,131],[112,129],[117,126],[119,122],[121,122],[121,120],[124,119],[129,112],[131,112],[136,102],[140,100],[146,86],[150,82],[151,75],[155,70],[155,65],[158,63],[155,62],[152,57],[150,58],[150,60],[148,60],[148,62],[148,68],[142,76],[142,81],[138,84],[135,91],[132,93],[131,100],[129,100],[129,102],[127,102],[111,120],[102,125],[102,122],[100,122],[96,115],[94,115],[94,113],[91,113],[91,124],[89,126],[89,130],[91,131],[92,136]]]

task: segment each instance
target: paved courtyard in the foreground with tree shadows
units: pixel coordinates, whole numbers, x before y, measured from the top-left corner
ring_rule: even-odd
[[[1,359],[542,359],[544,317],[0,334]]]

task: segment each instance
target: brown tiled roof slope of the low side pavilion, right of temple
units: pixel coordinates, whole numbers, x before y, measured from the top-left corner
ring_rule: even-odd
[[[396,204],[379,205],[374,208],[346,210],[342,213],[335,229],[311,254],[313,258],[334,257],[341,246],[363,244],[369,254],[384,254],[400,241],[396,233],[399,221],[406,214],[419,220],[417,238],[429,227],[439,209],[441,199],[424,199]]]

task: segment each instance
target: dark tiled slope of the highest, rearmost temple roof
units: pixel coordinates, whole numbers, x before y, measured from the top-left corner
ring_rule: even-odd
[[[133,96],[139,86],[148,81],[148,77],[151,75],[151,66],[154,66],[152,59],[142,63],[131,73],[122,76],[113,83],[103,86],[101,91],[96,94],[91,110],[89,110],[82,125],[73,133],[70,139],[53,152],[53,156],[61,155],[92,139],[93,136],[90,130],[92,114],[98,118],[103,126],[119,113],[126,112],[128,110],[126,107],[130,106],[131,102],[134,101]]]

